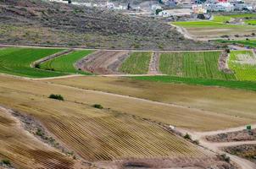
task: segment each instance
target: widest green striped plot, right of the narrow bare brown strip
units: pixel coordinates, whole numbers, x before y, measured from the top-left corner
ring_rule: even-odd
[[[187,78],[235,79],[218,68],[220,52],[164,52],[159,69],[163,74]]]

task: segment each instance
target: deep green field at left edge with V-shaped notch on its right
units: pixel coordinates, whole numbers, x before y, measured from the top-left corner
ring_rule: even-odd
[[[31,63],[63,49],[3,48],[0,49],[0,72],[31,78],[46,78],[64,74],[31,68]]]

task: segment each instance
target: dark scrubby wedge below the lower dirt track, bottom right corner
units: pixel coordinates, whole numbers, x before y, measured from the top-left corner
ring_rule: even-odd
[[[231,155],[237,155],[252,161],[256,164],[256,144],[243,144],[234,147],[227,147],[224,150]]]

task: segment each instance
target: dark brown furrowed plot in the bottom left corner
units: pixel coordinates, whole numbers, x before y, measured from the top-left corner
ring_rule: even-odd
[[[24,140],[28,142],[23,143]],[[52,151],[44,146],[36,147],[36,144],[28,140],[27,138],[12,139],[8,142],[1,142],[0,152],[3,150],[4,155],[8,157],[12,163],[21,166],[22,168],[37,168],[43,166],[46,169],[72,168],[73,161],[70,161],[67,157]]]

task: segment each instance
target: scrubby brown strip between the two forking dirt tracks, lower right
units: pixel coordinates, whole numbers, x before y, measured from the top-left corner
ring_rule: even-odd
[[[256,129],[252,129],[250,132],[246,129],[237,132],[231,132],[226,134],[217,134],[207,136],[206,139],[211,142],[232,142],[232,141],[248,141],[256,140]]]

